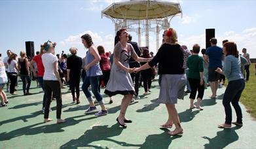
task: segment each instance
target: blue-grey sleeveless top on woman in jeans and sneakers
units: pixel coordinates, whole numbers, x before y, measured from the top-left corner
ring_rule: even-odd
[[[94,59],[95,59],[94,56],[90,54],[90,48],[89,48],[86,54],[85,65],[88,65],[88,63],[92,62]],[[86,76],[101,76],[101,75],[102,75],[102,71],[100,69],[100,61],[86,71]]]

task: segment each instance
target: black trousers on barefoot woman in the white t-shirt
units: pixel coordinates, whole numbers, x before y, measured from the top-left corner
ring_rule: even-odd
[[[60,90],[60,82],[58,80],[44,80],[44,88],[45,88],[45,118],[49,118],[49,110],[50,103],[52,102],[52,93],[54,93],[56,97],[57,110],[56,110],[56,118],[60,119],[62,115],[62,95]]]

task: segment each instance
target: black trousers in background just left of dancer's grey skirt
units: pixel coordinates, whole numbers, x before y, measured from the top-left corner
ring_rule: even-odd
[[[141,77],[143,80],[143,87],[144,87],[145,92],[147,92],[148,89],[151,89],[152,74],[153,74],[152,69],[146,69],[144,71],[141,71]]]

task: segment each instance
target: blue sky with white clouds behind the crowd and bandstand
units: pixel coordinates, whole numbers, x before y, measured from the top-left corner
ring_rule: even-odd
[[[113,51],[114,24],[101,18],[101,10],[113,1],[0,1],[0,50],[6,56],[10,49],[17,54],[26,50],[25,41],[34,41],[35,50],[50,39],[58,42],[57,53],[68,53],[71,46],[79,48],[84,57],[86,49],[81,35],[90,33],[96,46]],[[219,43],[229,39],[247,48],[251,58],[256,58],[256,1],[179,1],[183,18],[175,17],[171,27],[177,30],[179,42],[189,49],[192,44],[205,46],[205,29],[215,28]],[[134,41],[136,33],[131,33]],[[160,33],[162,35],[162,31]],[[161,39],[161,38],[160,38]],[[142,37],[144,40],[144,37]],[[142,42],[145,44],[145,42]],[[150,50],[156,52],[155,34],[150,33]],[[221,44],[219,44],[221,46]]]

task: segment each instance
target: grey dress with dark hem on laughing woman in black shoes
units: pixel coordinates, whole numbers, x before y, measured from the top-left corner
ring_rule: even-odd
[[[126,52],[124,47],[122,47],[122,44],[118,42],[115,45],[114,58],[119,58],[120,63],[129,68],[129,59],[135,58],[136,53],[132,47],[132,44],[127,43],[127,45],[128,52]],[[113,63],[109,76],[109,82],[107,83],[104,93],[109,96],[117,94],[134,94],[134,84],[132,83],[130,73],[126,73],[126,71],[123,71],[115,63]]]

